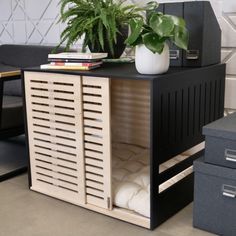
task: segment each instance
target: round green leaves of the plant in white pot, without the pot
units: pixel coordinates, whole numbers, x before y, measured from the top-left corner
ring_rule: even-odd
[[[187,50],[189,34],[183,18],[165,15],[157,11],[158,3],[149,2],[146,20],[136,18],[130,20],[131,34],[126,44],[136,46],[144,44],[153,53],[161,54],[166,41]]]

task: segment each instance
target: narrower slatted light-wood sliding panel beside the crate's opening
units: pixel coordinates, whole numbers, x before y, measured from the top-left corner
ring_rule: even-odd
[[[110,81],[82,81],[86,202],[111,209]]]

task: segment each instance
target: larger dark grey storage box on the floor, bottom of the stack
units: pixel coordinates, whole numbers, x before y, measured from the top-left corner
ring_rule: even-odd
[[[194,227],[236,235],[236,169],[194,162]]]

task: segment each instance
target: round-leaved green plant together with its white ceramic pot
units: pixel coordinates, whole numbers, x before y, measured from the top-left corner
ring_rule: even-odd
[[[157,11],[150,2],[146,20],[130,20],[131,34],[126,44],[135,48],[135,66],[141,74],[161,74],[169,68],[168,41],[187,50],[188,30],[184,19]]]

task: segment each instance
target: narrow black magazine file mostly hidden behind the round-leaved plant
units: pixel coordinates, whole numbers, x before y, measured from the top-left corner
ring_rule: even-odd
[[[183,3],[165,3],[165,14],[183,17]],[[170,43],[170,66],[182,66],[183,50]]]

